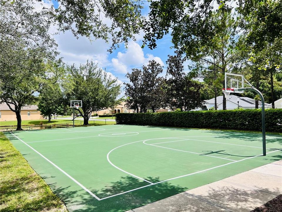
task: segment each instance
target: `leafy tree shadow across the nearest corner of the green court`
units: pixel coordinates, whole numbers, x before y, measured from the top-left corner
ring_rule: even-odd
[[[148,180],[159,181],[158,178],[148,177]],[[108,186],[101,191],[90,189],[91,192],[98,194],[99,198],[103,196],[110,196],[113,194],[121,193],[128,190],[128,186],[132,184],[139,187],[143,182],[132,177],[123,177],[116,182],[110,182],[111,186]],[[141,186],[142,186],[141,185]],[[137,208],[146,205],[151,202],[172,196],[177,193],[186,191],[188,188],[181,186],[174,186],[171,183],[164,182],[147,187],[147,189],[140,189],[125,193],[123,195],[114,196],[104,200],[96,200],[87,192],[81,190],[73,191],[70,186],[62,188],[58,187],[56,183],[50,185],[54,193],[56,193],[66,204],[69,211],[75,212],[117,212],[127,211],[132,208]],[[101,193],[104,195],[102,196]]]

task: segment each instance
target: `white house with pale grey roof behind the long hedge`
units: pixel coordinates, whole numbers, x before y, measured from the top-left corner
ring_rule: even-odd
[[[222,99],[223,96],[216,97],[217,102],[217,110],[222,110]],[[281,101],[282,102],[282,101]],[[204,100],[204,105],[207,107],[207,109],[214,108],[214,98],[210,100]],[[235,95],[230,95],[226,98],[226,110],[234,110],[237,109],[239,105],[239,108],[243,109],[255,109],[255,100],[251,99],[249,97],[238,97]],[[264,104],[265,108],[271,108],[271,104]],[[261,108],[261,101],[259,101],[259,108]]]

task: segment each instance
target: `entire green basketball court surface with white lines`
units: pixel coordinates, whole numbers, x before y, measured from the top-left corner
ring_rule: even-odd
[[[69,211],[127,211],[281,159],[282,136],[104,125],[5,132]]]

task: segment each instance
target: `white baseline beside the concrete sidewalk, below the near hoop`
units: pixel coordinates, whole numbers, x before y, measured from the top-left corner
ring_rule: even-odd
[[[268,152],[268,153],[266,153],[266,154],[273,153],[273,152],[277,152],[277,151],[280,151],[280,150],[282,150],[282,149],[274,150],[274,151]],[[107,196],[107,197],[101,198],[100,200],[108,199],[108,198],[111,198],[111,197],[114,197],[114,196],[118,196],[118,195],[121,195],[121,194],[125,194],[125,193],[128,193],[128,192],[131,192],[131,191],[136,191],[136,190],[138,190],[138,189],[145,188],[145,187],[148,187],[148,186],[151,186],[151,185],[156,185],[156,184],[159,184],[159,183],[163,183],[163,182],[166,182],[166,181],[169,181],[169,180],[175,180],[175,179],[182,178],[182,177],[186,177],[186,176],[189,176],[189,175],[194,175],[194,174],[197,174],[197,173],[209,171],[209,170],[212,170],[212,169],[215,169],[215,168],[219,168],[219,167],[222,167],[222,166],[229,165],[229,164],[231,164],[231,163],[237,163],[237,162],[240,162],[240,161],[243,161],[243,160],[255,158],[255,157],[258,157],[258,156],[262,156],[262,155],[263,155],[263,154],[261,154],[261,155],[256,155],[256,156],[253,156],[253,157],[250,157],[250,158],[244,158],[244,159],[241,159],[241,160],[236,160],[236,161],[233,161],[233,162],[230,162],[230,163],[226,163],[226,164],[219,165],[219,166],[214,166],[214,167],[212,167],[212,168],[208,168],[208,169],[205,169],[205,170],[197,171],[197,172],[190,173],[190,174],[187,174],[187,175],[182,175],[182,176],[170,178],[170,179],[167,179],[167,180],[162,180],[162,181],[159,181],[159,182],[157,182],[157,183],[153,183],[153,184],[150,184],[150,185],[145,185],[145,186],[142,186],[142,187],[139,187],[139,188],[134,188],[134,189],[129,190],[129,191],[124,191],[124,192],[122,192],[122,193],[118,193],[118,194],[114,194],[114,195],[111,195],[111,196]]]

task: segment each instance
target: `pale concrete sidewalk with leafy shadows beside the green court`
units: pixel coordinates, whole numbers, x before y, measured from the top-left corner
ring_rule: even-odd
[[[279,160],[127,212],[248,212],[281,193]]]

